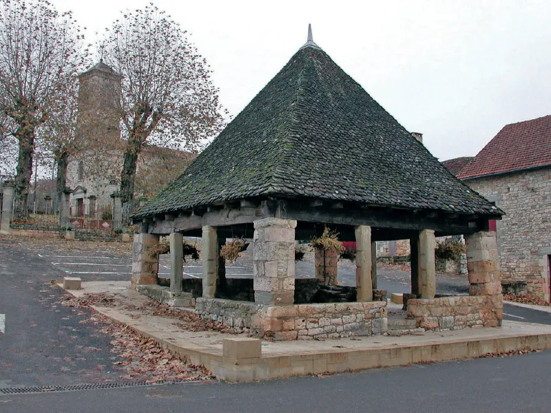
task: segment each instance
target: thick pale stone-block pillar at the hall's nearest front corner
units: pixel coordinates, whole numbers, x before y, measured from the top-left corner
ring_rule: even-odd
[[[281,306],[295,301],[294,220],[264,218],[254,222],[253,285],[258,304]]]

